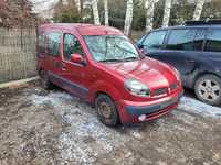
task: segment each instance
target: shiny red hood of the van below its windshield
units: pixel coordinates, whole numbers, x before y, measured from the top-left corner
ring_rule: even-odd
[[[150,88],[168,87],[177,81],[176,73],[165,63],[151,58],[125,63],[106,63],[106,69],[125,78],[137,79]]]

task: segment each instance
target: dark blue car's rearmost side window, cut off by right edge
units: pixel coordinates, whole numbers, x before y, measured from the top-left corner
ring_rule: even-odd
[[[221,30],[208,30],[204,51],[221,52]]]

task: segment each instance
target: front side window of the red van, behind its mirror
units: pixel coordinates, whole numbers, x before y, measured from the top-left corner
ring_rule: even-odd
[[[64,36],[64,58],[70,61],[72,54],[84,55],[78,40],[71,34]]]

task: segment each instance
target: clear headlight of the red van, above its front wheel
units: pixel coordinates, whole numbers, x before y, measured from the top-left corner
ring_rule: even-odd
[[[143,82],[136,79],[125,80],[125,88],[134,96],[149,97],[149,89]]]

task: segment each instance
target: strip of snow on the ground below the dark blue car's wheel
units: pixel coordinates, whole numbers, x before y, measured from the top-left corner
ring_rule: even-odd
[[[178,109],[203,116],[221,117],[221,108],[213,107],[193,98],[182,97]]]

